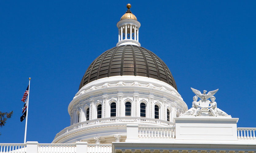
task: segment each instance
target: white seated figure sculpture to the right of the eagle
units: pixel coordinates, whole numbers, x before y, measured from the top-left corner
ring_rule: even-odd
[[[211,116],[230,116],[227,113],[225,113],[223,110],[217,108],[217,103],[215,102],[215,97],[211,96],[211,102],[210,102],[210,106],[209,107],[205,107],[205,108],[209,108],[209,113],[211,114]]]

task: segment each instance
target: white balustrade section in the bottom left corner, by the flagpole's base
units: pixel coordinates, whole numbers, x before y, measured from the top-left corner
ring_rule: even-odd
[[[0,153],[25,153],[26,144],[0,144]]]

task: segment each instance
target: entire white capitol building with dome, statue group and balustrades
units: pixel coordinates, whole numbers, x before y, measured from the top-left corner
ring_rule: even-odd
[[[167,65],[139,43],[128,10],[118,42],[86,70],[68,106],[70,126],[51,144],[0,144],[0,153],[254,153],[256,128],[238,128],[217,107],[218,91],[195,93],[187,106]],[[218,98],[218,97],[217,97]]]

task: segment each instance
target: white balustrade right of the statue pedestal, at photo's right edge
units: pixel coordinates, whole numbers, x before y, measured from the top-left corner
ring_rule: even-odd
[[[255,139],[256,128],[237,128],[238,139]]]

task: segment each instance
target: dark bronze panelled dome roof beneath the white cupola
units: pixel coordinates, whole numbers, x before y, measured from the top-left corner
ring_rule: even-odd
[[[113,47],[97,57],[86,70],[79,90],[87,83],[109,76],[146,76],[176,83],[166,64],[150,50],[135,45]]]

